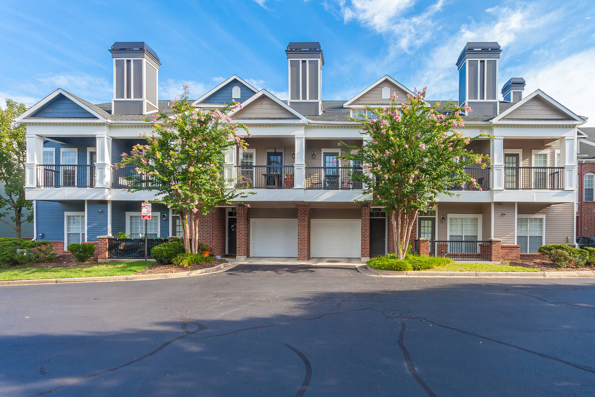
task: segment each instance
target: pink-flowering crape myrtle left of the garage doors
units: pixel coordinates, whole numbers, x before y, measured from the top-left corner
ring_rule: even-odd
[[[156,191],[151,202],[165,204],[180,215],[186,252],[198,253],[198,214],[208,214],[218,205],[246,196],[230,189],[224,178],[223,162],[228,149],[246,149],[248,143],[239,135],[248,128],[231,123],[228,111],[241,109],[238,102],[223,108],[204,111],[188,100],[188,86],[180,99],[174,98],[173,115],[152,115],[153,131],[139,133],[145,145],[135,145],[130,154],[123,153],[116,167],[135,165],[127,176],[129,192]]]

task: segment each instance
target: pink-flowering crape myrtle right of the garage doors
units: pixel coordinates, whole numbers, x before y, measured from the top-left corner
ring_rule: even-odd
[[[362,202],[385,207],[390,214],[400,259],[405,258],[418,214],[436,208],[439,193],[453,196],[449,190],[453,185],[467,183],[481,190],[463,168],[484,168],[490,162],[488,156],[465,148],[487,135],[469,137],[454,130],[464,125],[461,112],[471,109],[446,102],[439,111],[440,104],[425,102],[425,91],[408,95],[408,101],[400,103],[393,93],[389,108],[366,106],[372,115],[352,120],[362,125],[362,135],[369,140],[341,154],[343,160],[363,164],[365,172],[352,172],[352,179],[366,186],[364,195],[369,196]]]

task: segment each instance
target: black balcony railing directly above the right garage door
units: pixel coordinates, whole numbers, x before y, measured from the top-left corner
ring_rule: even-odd
[[[306,167],[306,189],[363,189],[362,182],[352,178],[354,173],[362,172],[361,167]]]

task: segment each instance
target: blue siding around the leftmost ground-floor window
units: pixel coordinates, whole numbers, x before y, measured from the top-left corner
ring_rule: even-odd
[[[64,212],[84,212],[84,201],[37,200],[37,235],[43,240],[64,241]]]

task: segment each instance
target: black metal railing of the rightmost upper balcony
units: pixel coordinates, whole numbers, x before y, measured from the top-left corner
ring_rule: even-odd
[[[564,167],[504,167],[505,189],[564,189]]]

